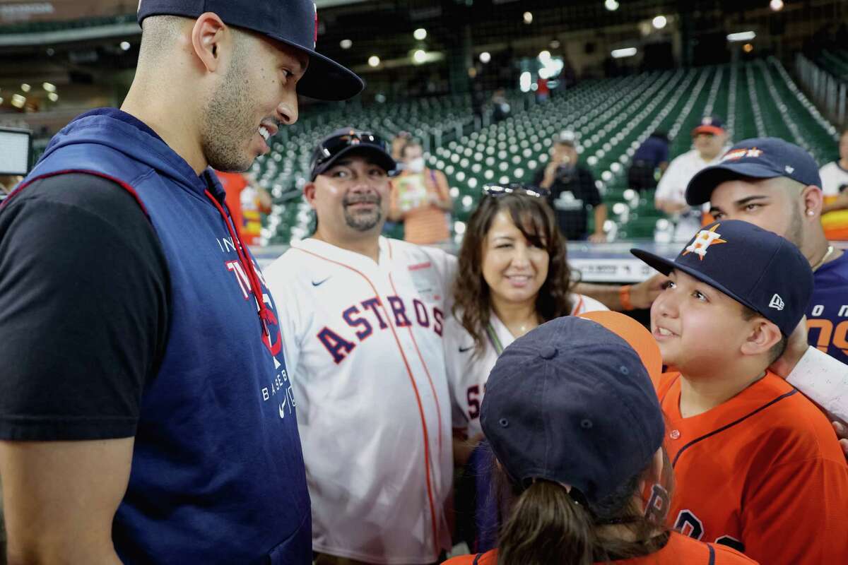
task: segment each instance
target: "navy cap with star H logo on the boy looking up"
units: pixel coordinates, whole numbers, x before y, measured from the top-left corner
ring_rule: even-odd
[[[700,230],[677,258],[640,249],[636,257],[662,274],[683,271],[744,304],[790,335],[812,297],[812,269],[798,247],[738,219]]]

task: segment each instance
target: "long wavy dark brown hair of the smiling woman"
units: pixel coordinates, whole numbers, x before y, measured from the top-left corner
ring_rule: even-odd
[[[538,290],[536,312],[544,322],[572,312],[572,274],[566,262],[566,240],[556,225],[554,212],[542,197],[522,194],[486,196],[480,201],[466,226],[459,253],[459,269],[454,282],[453,313],[474,338],[477,352],[485,343],[492,303],[483,279],[483,242],[495,215],[508,211],[522,235],[534,246],[548,252],[548,278]],[[461,316],[459,315],[461,311]]]

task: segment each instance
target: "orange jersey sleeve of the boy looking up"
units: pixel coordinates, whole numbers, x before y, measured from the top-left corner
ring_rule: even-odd
[[[743,501],[745,554],[762,563],[848,562],[845,461],[810,457],[767,468]]]

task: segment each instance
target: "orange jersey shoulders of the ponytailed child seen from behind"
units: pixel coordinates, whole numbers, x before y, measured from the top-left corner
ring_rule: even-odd
[[[756,565],[729,547],[713,546],[673,534],[660,551],[644,557],[615,561],[616,565]],[[478,555],[463,555],[444,562],[443,565],[498,565],[498,550]],[[552,564],[554,565],[554,564]],[[763,563],[765,565],[765,563]]]

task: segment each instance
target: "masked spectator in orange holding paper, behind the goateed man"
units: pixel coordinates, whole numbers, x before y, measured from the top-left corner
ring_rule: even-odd
[[[450,239],[448,179],[442,171],[424,165],[421,143],[410,141],[400,152],[400,174],[393,181],[389,218],[404,222],[404,240],[418,245],[444,243]]]

